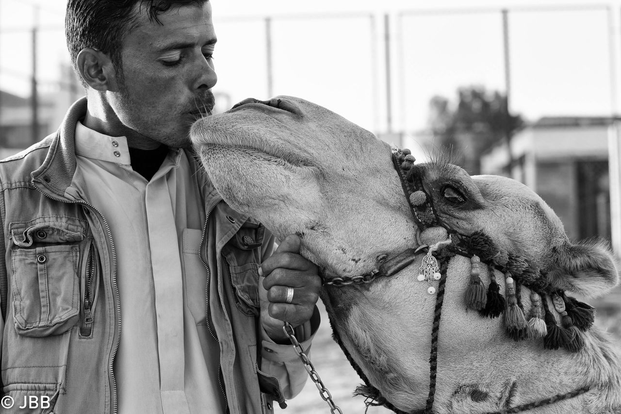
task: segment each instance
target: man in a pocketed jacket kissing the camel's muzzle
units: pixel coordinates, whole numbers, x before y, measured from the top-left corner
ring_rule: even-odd
[[[189,149],[214,105],[211,4],[69,0],[66,37],[86,98],[0,162],[2,410],[270,412],[306,380],[282,327],[309,345],[320,280]]]

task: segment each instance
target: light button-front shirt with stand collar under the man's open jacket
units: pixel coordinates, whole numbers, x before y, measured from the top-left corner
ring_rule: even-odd
[[[224,412],[220,349],[205,324],[204,206],[184,151],[170,150],[147,182],[125,137],[81,122],[75,137],[78,195],[107,219],[118,253],[119,414]]]

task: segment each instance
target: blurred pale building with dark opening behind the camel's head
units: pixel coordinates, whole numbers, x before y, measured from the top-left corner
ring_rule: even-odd
[[[507,175],[537,191],[571,239],[610,239],[610,117],[542,117],[481,156],[481,173]]]

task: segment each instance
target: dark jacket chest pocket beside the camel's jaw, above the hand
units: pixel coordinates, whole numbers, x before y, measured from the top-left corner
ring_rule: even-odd
[[[248,316],[257,316],[260,312],[258,269],[264,236],[263,225],[248,220],[222,248],[235,290],[235,305]]]

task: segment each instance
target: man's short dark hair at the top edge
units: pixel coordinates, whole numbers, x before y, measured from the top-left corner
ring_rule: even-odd
[[[78,53],[95,48],[110,57],[122,76],[121,50],[125,35],[138,27],[139,14],[146,11],[150,21],[161,24],[158,15],[173,6],[201,5],[209,0],[68,0],[65,37],[76,74]],[[135,5],[140,7],[135,9]],[[80,77],[84,86],[87,86]]]

